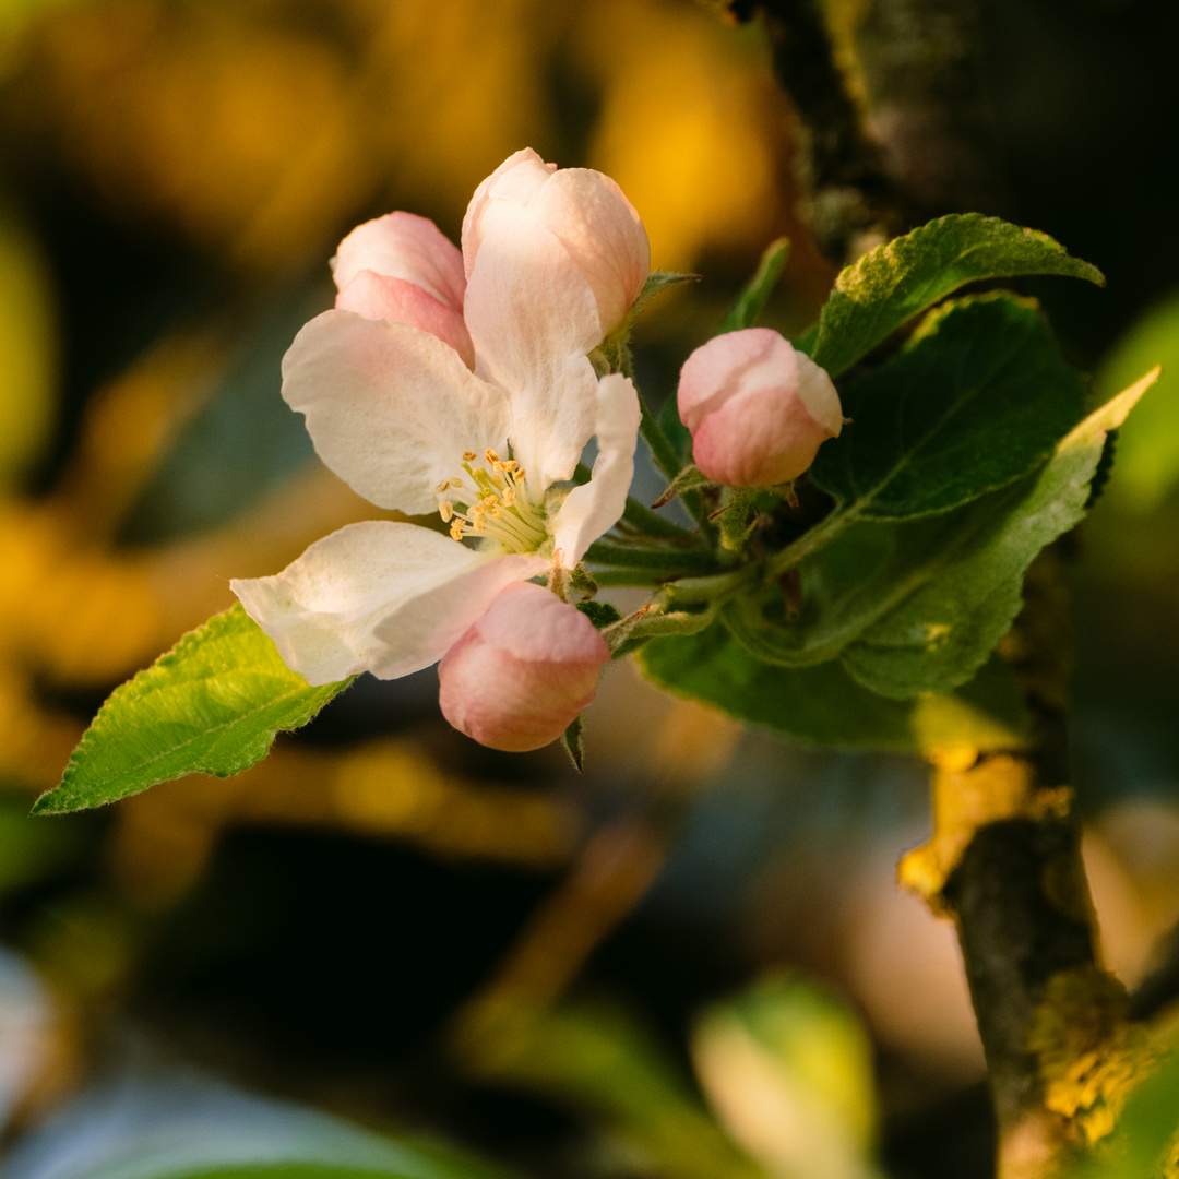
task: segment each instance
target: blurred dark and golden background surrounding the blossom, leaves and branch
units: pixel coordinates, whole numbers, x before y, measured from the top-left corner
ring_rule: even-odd
[[[1179,9],[982,7],[982,211],[1106,272],[1026,288],[1099,387],[1172,370],[1069,571],[1086,861],[1134,988],[1179,918]],[[0,0],[5,1174],[129,1106],[231,1134],[257,1095],[538,1175],[989,1172],[953,931],[895,885],[916,760],[744,731],[624,664],[579,777],[452,731],[429,671],[237,778],[26,817],[231,577],[376,514],[278,396],[353,225],[456,239],[526,145],[610,173],[653,263],[703,276],[640,323],[658,403],[775,237],[764,322],[814,322],[836,268],[797,143],[759,26],[690,0]]]

